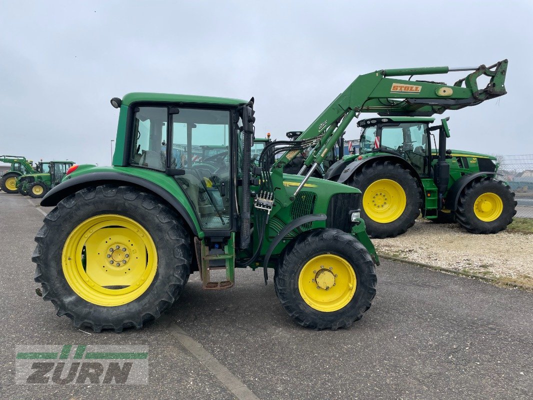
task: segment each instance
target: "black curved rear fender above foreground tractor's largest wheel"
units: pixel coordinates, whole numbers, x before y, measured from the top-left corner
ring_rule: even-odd
[[[62,199],[76,193],[78,190],[82,190],[86,187],[107,184],[135,186],[155,194],[164,199],[166,203],[181,215],[195,236],[203,237],[203,234],[200,234],[201,230],[196,215],[187,210],[175,195],[148,179],[122,172],[90,172],[64,180],[58,186],[55,186],[52,190],[46,193],[41,201],[41,206],[55,206]],[[184,196],[184,198],[186,197]]]

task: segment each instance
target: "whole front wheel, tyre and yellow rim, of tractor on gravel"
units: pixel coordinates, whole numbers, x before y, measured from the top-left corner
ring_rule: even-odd
[[[494,234],[513,222],[514,193],[502,181],[482,178],[471,182],[459,196],[456,221],[474,234]]]

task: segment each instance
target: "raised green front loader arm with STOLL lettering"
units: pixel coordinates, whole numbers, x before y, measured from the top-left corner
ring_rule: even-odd
[[[447,74],[454,71],[472,72],[454,85],[410,80],[415,75]],[[360,75],[296,139],[302,141],[320,138],[305,159],[300,173],[311,166],[310,173],[308,172],[310,176],[314,168],[324,161],[324,157],[335,146],[352,119],[361,113],[377,113],[381,116],[431,116],[442,114],[446,110],[478,105],[507,93],[504,84],[506,71],[507,60],[503,60],[490,67],[481,65],[472,68],[383,69]],[[490,77],[490,82],[484,89],[479,89],[477,79],[482,75]],[[410,77],[406,80],[397,79],[397,76]],[[302,150],[287,151],[273,167],[282,169],[301,152]]]

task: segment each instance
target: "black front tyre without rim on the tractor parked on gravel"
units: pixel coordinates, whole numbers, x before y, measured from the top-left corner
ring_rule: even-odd
[[[496,194],[503,203],[503,210],[494,221],[482,221],[474,212],[474,203],[483,193]],[[474,234],[495,234],[507,228],[516,214],[516,201],[511,187],[502,181],[482,178],[469,183],[457,202],[456,221]]]

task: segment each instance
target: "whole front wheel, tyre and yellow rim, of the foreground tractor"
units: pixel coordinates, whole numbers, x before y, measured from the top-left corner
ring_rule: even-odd
[[[311,329],[350,326],[372,305],[374,262],[338,229],[304,233],[287,246],[274,274],[276,294],[294,321]]]

